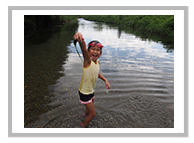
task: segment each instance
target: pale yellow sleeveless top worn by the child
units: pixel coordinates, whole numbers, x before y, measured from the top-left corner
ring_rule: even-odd
[[[99,63],[95,64],[91,61],[91,64],[88,68],[83,67],[82,79],[79,87],[79,91],[82,94],[89,95],[94,93],[95,84],[98,78],[99,73]]]

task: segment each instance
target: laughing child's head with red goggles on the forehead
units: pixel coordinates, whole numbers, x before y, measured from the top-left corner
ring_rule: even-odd
[[[96,61],[102,54],[102,47],[102,44],[97,40],[93,40],[88,44],[88,53],[93,61]]]

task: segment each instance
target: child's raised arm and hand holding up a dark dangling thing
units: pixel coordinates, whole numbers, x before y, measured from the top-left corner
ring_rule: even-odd
[[[84,66],[84,68],[87,68],[91,63],[91,59],[90,59],[90,56],[88,54],[88,50],[86,48],[86,43],[84,41],[84,38],[83,38],[83,36],[80,32],[77,32],[73,36],[73,38],[79,42],[79,45],[81,47],[82,54],[83,54],[83,57],[84,57],[84,65],[83,66]]]

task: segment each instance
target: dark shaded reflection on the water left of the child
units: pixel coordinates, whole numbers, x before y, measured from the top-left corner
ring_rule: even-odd
[[[24,125],[54,108],[48,106],[53,96],[50,85],[64,76],[64,72],[59,71],[65,70],[61,65],[68,57],[66,45],[69,44],[70,36],[73,36],[66,28],[76,31],[77,24],[38,30],[32,35],[25,35]]]

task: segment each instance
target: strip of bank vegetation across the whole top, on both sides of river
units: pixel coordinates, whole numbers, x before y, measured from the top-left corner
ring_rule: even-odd
[[[174,36],[173,15],[25,15],[24,28],[41,28],[76,21],[77,18],[117,24],[161,35]]]

